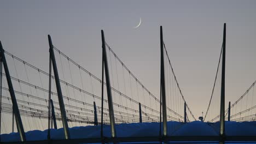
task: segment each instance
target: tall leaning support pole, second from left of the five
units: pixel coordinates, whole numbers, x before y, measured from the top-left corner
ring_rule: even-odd
[[[65,139],[70,139],[68,123],[67,123],[67,116],[66,116],[66,111],[65,111],[65,105],[64,105],[64,102],[63,102],[60,79],[59,79],[57,64],[56,64],[55,56],[54,56],[53,43],[51,42],[51,36],[50,35],[48,35],[48,40],[49,40],[49,47],[50,47],[49,51],[50,51],[50,56],[51,56],[51,62],[53,63],[55,83],[56,83],[56,89],[57,89],[59,104],[60,104],[61,119],[62,119],[63,129],[64,129],[64,133],[65,133]]]

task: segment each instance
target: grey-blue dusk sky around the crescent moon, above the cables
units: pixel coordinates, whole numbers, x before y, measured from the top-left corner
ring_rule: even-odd
[[[199,117],[210,100],[223,23],[226,104],[256,80],[255,7],[255,1],[1,1],[0,40],[8,52],[48,70],[50,34],[58,49],[101,77],[103,29],[114,52],[159,95],[162,26],[179,86]]]

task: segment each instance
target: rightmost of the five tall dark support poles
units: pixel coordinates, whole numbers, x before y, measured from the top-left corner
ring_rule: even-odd
[[[226,56],[226,23],[223,31],[223,49],[222,49],[222,87],[220,92],[220,128],[219,135],[222,139],[225,136],[225,56]]]

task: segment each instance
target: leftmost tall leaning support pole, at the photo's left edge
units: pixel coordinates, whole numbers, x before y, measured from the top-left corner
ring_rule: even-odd
[[[9,87],[11,102],[13,103],[13,112],[14,112],[14,115],[15,115],[15,121],[16,121],[17,129],[18,129],[18,132],[20,134],[20,140],[21,141],[26,141],[25,131],[24,131],[24,128],[23,128],[23,125],[22,125],[21,117],[20,117],[20,111],[19,111],[19,107],[18,107],[18,104],[17,104],[17,101],[16,101],[16,97],[15,97],[15,93],[14,93],[14,89],[13,89],[13,83],[11,82],[10,73],[9,73],[8,65],[7,65],[5,56],[4,56],[4,50],[3,50],[3,46],[2,46],[1,41],[0,41],[0,53],[1,53],[0,54],[1,55],[1,61],[3,62],[4,71],[5,71],[8,87]]]

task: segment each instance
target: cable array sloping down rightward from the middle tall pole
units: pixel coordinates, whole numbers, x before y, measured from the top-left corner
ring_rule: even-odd
[[[109,59],[109,63],[110,66],[112,65],[113,61],[115,62],[114,64],[117,64],[117,62],[119,62],[119,69],[120,71],[123,71],[123,80],[124,80],[124,88],[122,91],[124,91],[125,93],[127,93],[128,95],[131,95],[130,97],[132,98],[138,98],[137,101],[139,103],[142,104],[142,108],[144,108],[142,111],[149,111],[147,109],[147,107],[145,107],[146,105],[148,105],[148,107],[154,107],[155,110],[159,109],[160,106],[160,100],[158,98],[155,97],[154,94],[152,94],[143,84],[141,81],[139,81],[137,79],[137,77],[132,74],[132,72],[126,67],[126,65],[120,60],[120,58],[114,53],[114,51],[111,49],[111,47],[106,43],[106,46],[108,47],[108,59]],[[115,67],[116,68],[116,67]],[[113,75],[119,75],[116,73],[116,71],[118,71],[117,69],[115,69],[114,71],[112,71],[111,73]],[[122,75],[122,73],[120,74]],[[112,75],[111,75],[112,76]],[[110,77],[111,77],[110,76]],[[119,82],[118,80],[121,79],[122,77],[117,77],[117,81],[114,81],[118,84],[119,86]],[[114,80],[114,79],[113,79]],[[125,82],[125,80],[127,82]],[[130,89],[131,92],[129,93],[129,91],[126,91],[126,85],[125,83],[130,83]],[[113,83],[115,85],[115,83]],[[133,86],[133,87],[132,87]],[[120,88],[121,89],[121,88]],[[135,95],[135,96],[134,96]],[[143,106],[144,105],[144,106]],[[167,107],[167,111],[170,115],[167,116],[167,120],[168,121],[179,121],[182,122],[184,117],[181,115],[181,113],[178,113],[176,111],[174,111],[173,109],[171,109],[170,107]],[[159,111],[158,112],[152,112],[152,115],[155,115],[158,117],[158,119],[156,119],[156,121],[159,121]]]

